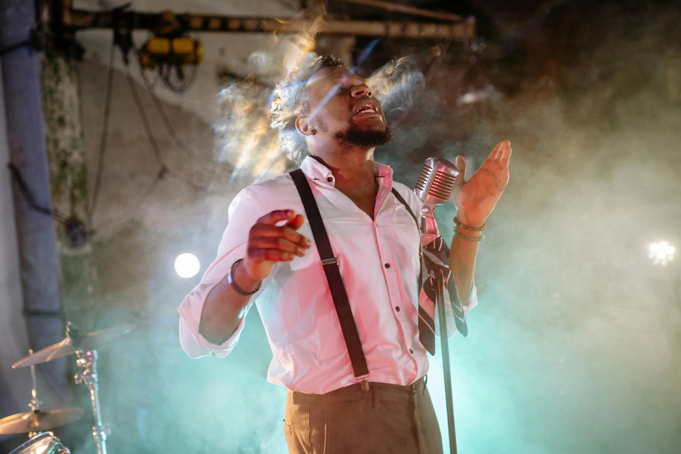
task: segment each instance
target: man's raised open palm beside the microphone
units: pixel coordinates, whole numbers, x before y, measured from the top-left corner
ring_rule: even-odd
[[[464,182],[466,161],[456,157],[456,168],[461,172],[454,187],[454,203],[460,222],[479,226],[490,215],[509,182],[511,142],[504,140],[494,147],[490,157]]]

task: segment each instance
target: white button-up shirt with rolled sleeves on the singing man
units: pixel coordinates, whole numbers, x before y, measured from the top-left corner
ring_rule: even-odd
[[[420,235],[407,208],[390,191],[394,187],[417,216],[421,201],[404,184],[392,181],[389,166],[376,163],[379,191],[372,220],[334,187],[335,178],[326,166],[307,157],[300,167],[311,184],[339,260],[366,356],[368,380],[411,385],[428,372],[428,357],[418,331]],[[287,209],[304,214],[289,174],[253,184],[236,195],[229,206],[229,224],[217,258],[178,308],[180,344],[192,358],[228,355],[255,302],[274,355],[268,381],[293,391],[327,393],[357,380],[307,220],[298,231],[313,247],[305,257],[274,265],[251,297],[234,335],[217,345],[199,332],[206,297],[225,278],[232,263],[246,254],[253,224],[272,210]],[[473,287],[464,310],[476,304]],[[447,330],[450,334],[456,330],[453,317],[447,317]]]

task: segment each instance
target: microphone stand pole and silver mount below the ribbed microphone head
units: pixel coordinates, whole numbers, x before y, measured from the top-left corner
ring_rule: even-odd
[[[428,207],[428,210],[426,210]],[[424,206],[421,216],[421,242],[429,244],[440,236],[440,229],[435,219],[434,206]],[[458,295],[457,295],[458,297]],[[456,431],[454,430],[454,399],[452,396],[452,370],[449,366],[449,342],[447,340],[447,312],[445,311],[444,281],[438,280],[435,294],[435,306],[440,319],[440,348],[442,352],[442,370],[445,374],[445,401],[447,402],[447,426],[449,428],[449,452],[456,454]]]

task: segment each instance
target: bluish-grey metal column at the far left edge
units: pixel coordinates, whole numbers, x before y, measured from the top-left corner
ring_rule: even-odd
[[[35,25],[32,0],[0,1],[0,47],[10,161],[19,169],[39,206],[50,207],[40,65],[30,46]],[[0,163],[0,172],[9,172]],[[13,186],[24,314],[33,350],[63,338],[52,218],[31,210]],[[68,398],[66,362],[42,364],[52,389]]]

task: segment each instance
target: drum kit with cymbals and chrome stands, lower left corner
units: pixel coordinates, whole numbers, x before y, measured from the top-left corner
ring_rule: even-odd
[[[18,413],[0,419],[0,435],[29,434],[29,440],[14,449],[10,454],[69,454],[71,451],[52,432],[45,432],[54,427],[59,427],[77,421],[84,415],[82,408],[54,408],[43,410],[42,402],[37,398],[35,390],[35,365],[46,363],[53,359],[76,355],[76,366],[79,372],[76,374],[76,383],[84,383],[90,390],[92,411],[95,418],[95,427],[92,428],[97,454],[106,454],[106,437],[110,434],[108,424],[101,423],[99,410],[99,385],[97,378],[97,350],[110,340],[123,336],[135,328],[135,325],[101,329],[91,333],[80,335],[71,322],[66,326],[66,338],[57,344],[43,348],[33,353],[29,350],[29,356],[12,364],[12,368],[31,367],[31,379],[33,380],[33,398],[29,403],[31,411]]]

